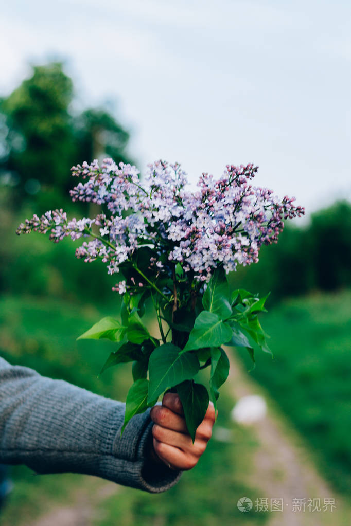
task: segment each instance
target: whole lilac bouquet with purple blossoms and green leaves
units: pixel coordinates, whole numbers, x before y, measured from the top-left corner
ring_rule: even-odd
[[[101,205],[96,217],[68,219],[47,211],[19,225],[55,242],[83,238],[76,257],[102,259],[118,275],[114,291],[123,296],[119,319],[105,317],[79,338],[116,342],[102,371],[133,362],[133,385],[126,399],[123,429],[134,414],[153,406],[167,389],[182,401],[192,439],[211,399],[225,382],[229,361],[222,348],[244,347],[254,362],[254,345],[270,352],[258,313],[265,300],[243,289],[229,292],[227,274],[258,261],[260,247],[277,242],[283,219],[304,214],[294,199],[279,200],[272,190],[252,186],[252,164],[227,166],[218,180],[203,174],[199,189],[186,190],[179,164],[156,161],[143,181],[135,166],[104,159],[72,168],[81,177],[73,201]],[[142,321],[152,301],[159,334]],[[198,381],[210,367],[207,387]],[[202,379],[202,380],[201,380]],[[196,381],[197,380],[197,381]]]

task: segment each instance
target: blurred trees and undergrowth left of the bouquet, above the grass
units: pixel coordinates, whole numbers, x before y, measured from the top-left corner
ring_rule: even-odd
[[[0,99],[0,290],[94,302],[113,296],[113,278],[102,265],[74,258],[75,245],[56,247],[36,236],[19,239],[19,222],[33,213],[65,208],[77,216],[96,213],[72,204],[76,184],[69,169],[94,158],[131,162],[128,131],[104,107],[74,113],[74,86],[62,63],[34,66],[31,76]]]

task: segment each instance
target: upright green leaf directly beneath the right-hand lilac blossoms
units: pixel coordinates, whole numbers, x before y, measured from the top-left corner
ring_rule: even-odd
[[[205,294],[202,298],[205,310],[214,312],[221,320],[226,320],[232,315],[229,304],[227,276],[223,268],[217,268],[209,280]]]

